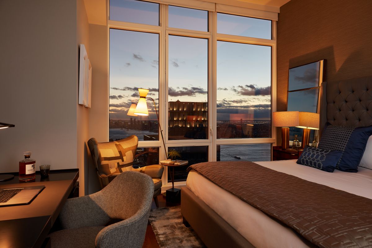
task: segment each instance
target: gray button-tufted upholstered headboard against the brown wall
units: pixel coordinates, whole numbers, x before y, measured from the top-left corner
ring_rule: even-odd
[[[320,133],[325,123],[372,125],[372,76],[324,82],[320,90]]]

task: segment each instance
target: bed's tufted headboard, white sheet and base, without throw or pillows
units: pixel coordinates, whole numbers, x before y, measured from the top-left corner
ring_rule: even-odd
[[[320,132],[326,122],[334,125],[372,125],[372,77],[323,83]],[[349,102],[349,103],[348,103]],[[343,107],[339,107],[343,106]],[[367,151],[368,152],[368,151]],[[370,151],[372,152],[372,151]],[[372,170],[327,173],[296,161],[257,164],[288,175],[372,199]],[[234,164],[232,163],[233,167]],[[314,247],[293,229],[225,191],[196,171],[190,171],[181,192],[181,212],[207,247]],[[372,241],[372,240],[371,240]],[[350,246],[352,247],[352,246]],[[358,247],[358,246],[355,246]]]

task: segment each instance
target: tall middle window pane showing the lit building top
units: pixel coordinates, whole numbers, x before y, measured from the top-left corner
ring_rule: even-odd
[[[208,40],[169,35],[168,139],[208,139]]]

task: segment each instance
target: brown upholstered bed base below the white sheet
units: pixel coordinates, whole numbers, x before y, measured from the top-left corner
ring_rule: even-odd
[[[247,239],[186,187],[181,189],[181,214],[185,226],[189,224],[208,248],[254,248]]]

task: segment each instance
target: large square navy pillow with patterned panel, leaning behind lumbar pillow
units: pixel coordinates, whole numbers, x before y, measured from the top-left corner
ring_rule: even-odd
[[[336,126],[328,125],[325,129],[318,148],[324,150],[343,151],[336,169],[346,172],[357,172],[372,126]]]

